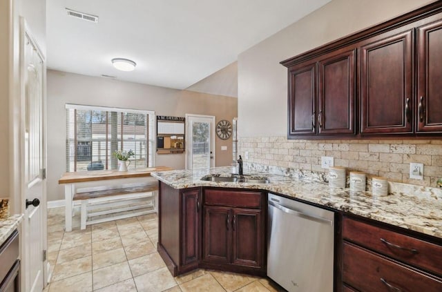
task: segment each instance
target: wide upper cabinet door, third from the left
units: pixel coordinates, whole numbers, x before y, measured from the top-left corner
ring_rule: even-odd
[[[413,30],[360,50],[361,133],[412,133]]]

